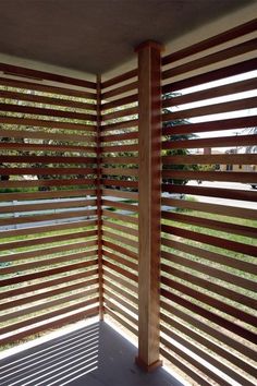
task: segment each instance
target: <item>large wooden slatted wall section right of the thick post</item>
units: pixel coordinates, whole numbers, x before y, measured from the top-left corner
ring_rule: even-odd
[[[257,382],[256,47],[254,21],[162,60],[161,353],[197,385]]]

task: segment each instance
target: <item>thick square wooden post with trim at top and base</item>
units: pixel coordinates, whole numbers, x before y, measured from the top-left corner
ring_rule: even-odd
[[[146,371],[159,360],[159,269],[161,200],[161,49],[155,41],[138,52],[139,126],[139,262],[138,262],[138,357]]]

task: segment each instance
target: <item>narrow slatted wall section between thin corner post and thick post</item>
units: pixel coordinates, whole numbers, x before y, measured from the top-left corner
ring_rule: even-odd
[[[137,334],[137,71],[102,83],[105,311]]]

